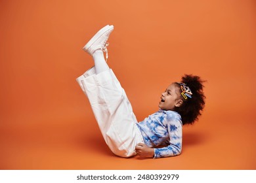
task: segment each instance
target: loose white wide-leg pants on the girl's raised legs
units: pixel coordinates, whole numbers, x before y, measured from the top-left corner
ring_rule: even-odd
[[[112,69],[96,75],[92,67],[76,80],[89,99],[110,150],[125,158],[135,156],[135,146],[144,141],[131,103]]]

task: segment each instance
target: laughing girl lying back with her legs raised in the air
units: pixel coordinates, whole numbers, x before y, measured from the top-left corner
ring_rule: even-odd
[[[202,80],[185,75],[161,93],[158,112],[137,122],[125,91],[108,67],[108,37],[113,25],[106,25],[83,47],[95,66],[77,78],[87,95],[106,144],[117,156],[161,158],[177,156],[182,149],[182,125],[198,120],[205,105]]]

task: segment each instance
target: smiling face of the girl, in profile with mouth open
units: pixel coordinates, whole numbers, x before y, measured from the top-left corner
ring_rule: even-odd
[[[175,110],[175,107],[180,107],[182,103],[180,89],[173,83],[168,86],[165,92],[161,93],[161,101],[158,107],[161,110]]]

